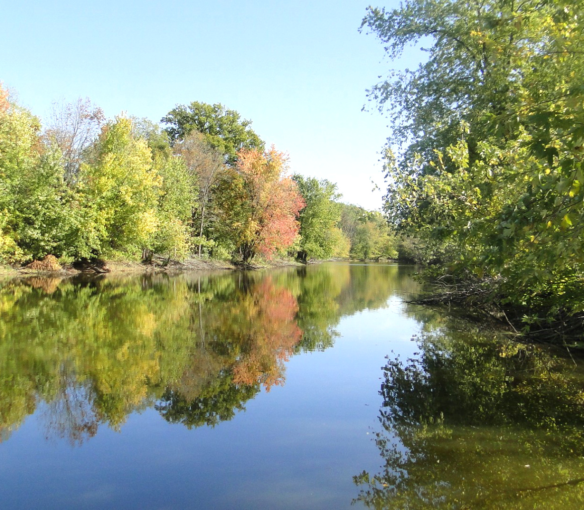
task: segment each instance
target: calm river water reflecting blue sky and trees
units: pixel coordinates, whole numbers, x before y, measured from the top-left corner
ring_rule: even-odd
[[[581,363],[411,271],[0,281],[0,508],[582,508]]]

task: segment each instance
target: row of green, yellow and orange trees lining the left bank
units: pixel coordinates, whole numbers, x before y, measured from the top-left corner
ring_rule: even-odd
[[[0,87],[0,263],[396,256],[380,212],[290,175],[238,112],[192,102],[161,123],[78,99],[43,127]]]

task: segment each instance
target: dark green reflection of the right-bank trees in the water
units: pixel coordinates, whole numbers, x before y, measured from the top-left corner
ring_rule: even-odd
[[[462,330],[464,328],[464,330]],[[582,508],[584,392],[572,360],[470,331],[428,333],[384,368],[369,508]]]

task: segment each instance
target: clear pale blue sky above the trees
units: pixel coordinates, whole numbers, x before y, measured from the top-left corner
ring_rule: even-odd
[[[396,0],[382,4],[397,6]],[[290,155],[291,171],[338,184],[342,201],[381,206],[378,152],[390,120],[366,89],[387,74],[359,33],[360,0],[4,0],[0,80],[48,118],[88,97],[113,118],[155,122],[177,104],[221,103]],[[415,67],[411,53],[399,67]],[[393,64],[391,64],[393,65]]]

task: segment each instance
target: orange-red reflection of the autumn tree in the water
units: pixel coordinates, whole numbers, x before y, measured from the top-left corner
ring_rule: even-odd
[[[249,298],[252,302],[245,306],[248,334],[233,369],[234,382],[260,383],[269,391],[284,383],[284,362],[302,338],[294,320],[298,304],[287,288],[274,287],[270,278],[264,278]]]

